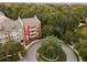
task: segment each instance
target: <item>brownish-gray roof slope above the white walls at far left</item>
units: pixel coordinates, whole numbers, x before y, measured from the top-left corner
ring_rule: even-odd
[[[13,21],[9,18],[0,19],[0,34],[7,33],[7,31],[18,31],[20,29],[20,22]]]

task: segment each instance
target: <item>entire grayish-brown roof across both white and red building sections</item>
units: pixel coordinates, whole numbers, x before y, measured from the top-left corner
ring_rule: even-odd
[[[0,35],[7,33],[7,32],[12,32],[12,31],[18,31],[21,28],[23,28],[23,25],[21,24],[21,22],[24,25],[30,25],[30,26],[35,26],[36,23],[40,23],[39,19],[36,17],[34,18],[28,18],[28,19],[18,19],[15,21],[2,15],[0,17]]]

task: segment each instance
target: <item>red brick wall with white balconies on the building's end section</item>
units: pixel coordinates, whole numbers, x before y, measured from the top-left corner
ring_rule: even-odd
[[[24,41],[30,41],[31,39],[39,37],[40,34],[40,24],[35,24],[35,26],[24,26]]]

